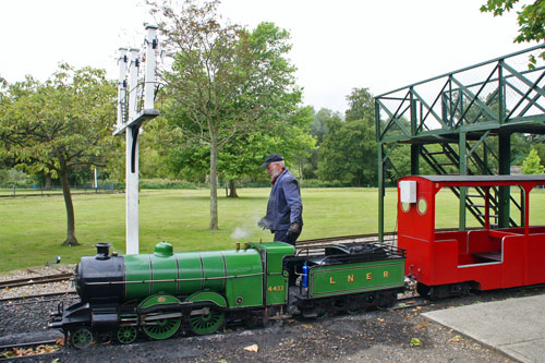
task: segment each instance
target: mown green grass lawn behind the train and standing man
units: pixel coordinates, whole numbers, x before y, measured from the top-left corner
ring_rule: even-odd
[[[272,234],[256,226],[265,214],[268,193],[269,189],[241,189],[239,198],[220,194],[219,230],[210,231],[207,190],[143,190],[140,251],[149,253],[160,241],[172,243],[178,252],[230,249],[237,241],[270,241]],[[545,223],[545,193],[532,194],[541,202],[532,205],[531,222]],[[300,240],[377,232],[376,189],[303,189],[302,197],[304,228]],[[81,243],[75,247],[61,246],[66,228],[61,195],[0,198],[0,271],[40,266],[56,255],[62,263],[76,263],[83,255],[94,255],[98,242],[109,242],[123,254],[125,195],[80,194],[73,198]],[[387,232],[397,229],[396,201],[396,190],[387,190]],[[457,206],[458,199],[449,191],[441,194],[437,227],[457,226]]]

